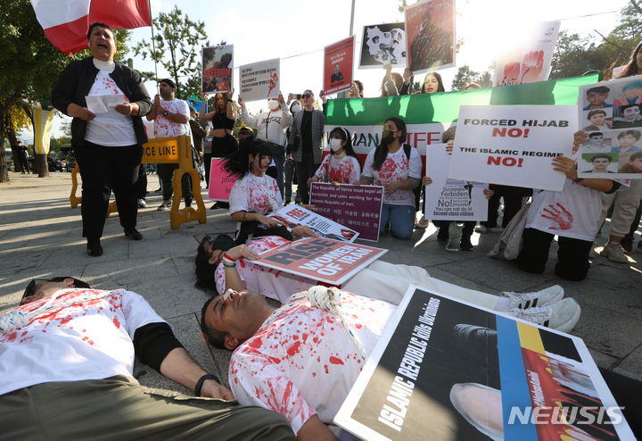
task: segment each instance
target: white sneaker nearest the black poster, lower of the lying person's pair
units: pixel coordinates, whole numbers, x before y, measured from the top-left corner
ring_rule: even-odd
[[[539,326],[556,329],[560,332],[571,332],[580,320],[580,304],[574,298],[565,298],[550,306],[538,306],[526,310],[512,309],[506,312],[516,319],[531,321]]]

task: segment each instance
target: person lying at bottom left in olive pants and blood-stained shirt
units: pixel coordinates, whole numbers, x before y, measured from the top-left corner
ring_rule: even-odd
[[[0,425],[6,439],[294,439],[280,415],[234,396],[192,360],[136,293],[34,279],[0,317]],[[142,387],[134,357],[192,389]]]

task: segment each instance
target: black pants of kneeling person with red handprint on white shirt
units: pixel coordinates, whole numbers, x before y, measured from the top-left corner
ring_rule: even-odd
[[[539,229],[524,229],[522,237],[523,248],[515,262],[526,272],[541,274],[546,268],[548,252],[555,235],[539,231]],[[558,236],[557,244],[559,250],[557,251],[556,275],[572,281],[586,278],[590,267],[588,253],[593,242]]]

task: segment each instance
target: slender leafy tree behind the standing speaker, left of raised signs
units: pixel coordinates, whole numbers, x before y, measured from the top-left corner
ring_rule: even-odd
[[[177,98],[185,99],[198,93],[201,82],[198,82],[198,87],[193,84],[193,77],[201,76],[201,63],[197,57],[203,46],[210,46],[205,23],[191,21],[187,15],[184,18],[178,6],[169,13],[159,13],[152,22],[157,30],[153,37],[155,48],[152,42],[143,40],[136,45],[134,53],[142,55],[143,59],[149,55],[153,62],[161,63],[169,71],[177,86]],[[184,78],[187,80],[181,80]]]

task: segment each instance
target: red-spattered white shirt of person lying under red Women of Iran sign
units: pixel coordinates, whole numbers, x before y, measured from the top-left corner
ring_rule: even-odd
[[[247,244],[254,253],[261,254],[277,246],[289,244],[290,241],[278,236],[261,237],[252,240]],[[316,280],[289,274],[284,271],[267,268],[252,261],[239,259],[236,261],[236,270],[243,280],[243,285],[247,289],[265,295],[266,297],[273,298],[282,304],[292,294],[307,291],[309,287],[317,285]],[[226,291],[225,268],[223,262],[218,263],[215,273],[217,290],[219,293]]]

